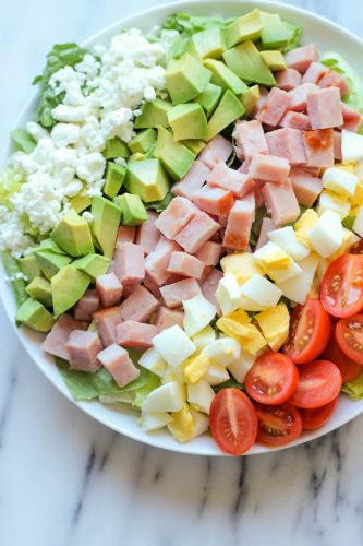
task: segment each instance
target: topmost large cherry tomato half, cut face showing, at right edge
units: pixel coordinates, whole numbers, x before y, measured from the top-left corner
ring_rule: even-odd
[[[328,266],[320,298],[329,314],[352,317],[363,308],[363,256],[343,254]]]

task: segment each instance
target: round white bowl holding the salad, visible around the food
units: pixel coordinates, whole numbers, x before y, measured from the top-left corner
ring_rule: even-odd
[[[149,31],[153,26],[160,24],[162,20],[174,12],[184,11],[194,15],[222,15],[226,17],[239,16],[254,9],[258,8],[279,13],[285,19],[292,23],[299,24],[303,28],[302,40],[304,43],[314,41],[324,50],[339,51],[347,60],[355,68],[355,70],[363,76],[362,58],[363,58],[363,41],[353,36],[348,31],[330,23],[329,21],[308,13],[298,8],[280,4],[278,2],[269,1],[225,1],[225,0],[206,0],[206,1],[190,1],[190,2],[176,2],[166,5],[153,8],[150,10],[137,13],[131,17],[119,21],[118,23],[100,31],[85,41],[84,46],[93,46],[95,44],[106,44],[111,36],[120,32],[124,27],[136,26],[143,31]],[[27,120],[34,119],[37,104],[37,94],[25,106],[21,112],[17,124],[23,124]],[[4,163],[12,151],[11,140],[9,139],[8,146],[2,154]],[[36,363],[37,367],[51,381],[51,383],[61,391],[64,396],[76,404],[86,414],[90,415],[98,422],[117,430],[130,438],[138,440],[143,443],[155,446],[157,448],[167,449],[170,451],[178,451],[182,453],[192,453],[197,455],[223,455],[218,449],[214,440],[209,436],[196,438],[189,443],[178,443],[171,435],[167,431],[159,431],[154,434],[144,432],[137,424],[137,414],[132,410],[125,407],[124,411],[113,410],[105,406],[98,402],[74,402],[60,377],[52,358],[45,355],[41,351],[43,335],[32,332],[25,328],[17,329],[14,324],[15,304],[12,290],[9,283],[5,282],[5,274],[3,269],[0,270],[0,292],[1,298],[8,313],[8,317],[17,336]],[[348,397],[342,396],[339,406],[329,422],[322,428],[312,432],[304,432],[297,441],[283,447],[285,449],[299,443],[311,441],[319,438],[331,430],[348,423],[353,417],[363,412],[363,400],[360,402],[352,402]],[[283,449],[280,448],[280,449]],[[262,446],[254,446],[249,454],[265,453],[269,451],[277,451],[277,449],[269,449]]]

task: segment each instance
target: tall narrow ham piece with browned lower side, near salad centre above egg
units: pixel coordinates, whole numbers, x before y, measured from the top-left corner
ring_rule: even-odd
[[[231,209],[223,237],[223,247],[245,250],[250,241],[254,218],[255,199],[254,193],[251,192],[243,199],[235,201]]]

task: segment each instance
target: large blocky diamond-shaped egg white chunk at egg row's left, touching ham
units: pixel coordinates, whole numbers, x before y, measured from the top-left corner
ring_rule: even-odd
[[[153,343],[162,358],[176,368],[195,353],[194,343],[178,324],[167,328],[155,337]]]

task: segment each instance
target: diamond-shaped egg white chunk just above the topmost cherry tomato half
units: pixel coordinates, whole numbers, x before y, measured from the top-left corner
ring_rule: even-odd
[[[326,211],[308,233],[313,248],[323,258],[334,254],[341,247],[343,237],[340,216],[332,211]]]

